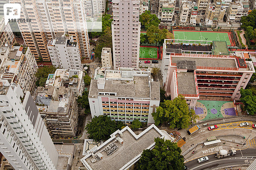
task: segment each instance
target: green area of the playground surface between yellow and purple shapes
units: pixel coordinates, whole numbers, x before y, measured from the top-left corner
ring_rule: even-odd
[[[222,105],[224,105],[225,103],[229,103],[225,101],[210,101],[210,100],[198,100],[198,102],[202,103],[207,109],[207,116],[203,120],[216,119],[215,116],[217,116],[217,118],[222,118],[223,116],[221,115],[219,110],[221,110]],[[198,107],[200,107],[200,105]],[[218,111],[216,115],[211,113],[211,109],[213,108],[215,108]]]

